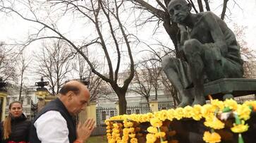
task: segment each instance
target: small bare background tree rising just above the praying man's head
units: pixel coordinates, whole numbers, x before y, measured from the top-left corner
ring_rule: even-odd
[[[52,42],[52,43],[51,43]],[[71,51],[68,44],[61,40],[53,40],[51,44],[43,44],[42,51],[35,54],[38,64],[35,73],[49,80],[50,93],[59,94],[61,85],[68,80],[67,74],[71,71]]]

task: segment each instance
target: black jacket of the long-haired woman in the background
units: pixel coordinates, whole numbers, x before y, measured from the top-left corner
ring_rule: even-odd
[[[18,118],[11,118],[11,135],[9,135],[8,139],[4,139],[4,126],[3,122],[0,125],[0,132],[1,132],[1,143],[6,143],[8,141],[14,142],[28,142],[28,136],[30,131],[30,120],[22,114]]]

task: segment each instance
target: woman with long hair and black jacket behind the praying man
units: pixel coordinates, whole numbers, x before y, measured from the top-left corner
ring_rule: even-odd
[[[19,101],[9,105],[9,114],[0,125],[1,143],[28,143],[31,122],[23,114]]]

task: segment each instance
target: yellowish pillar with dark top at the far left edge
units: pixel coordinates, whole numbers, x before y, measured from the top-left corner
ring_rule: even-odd
[[[6,97],[7,97],[7,90],[6,90],[7,83],[4,82],[3,78],[0,77],[0,119],[4,120],[5,113],[6,113]]]

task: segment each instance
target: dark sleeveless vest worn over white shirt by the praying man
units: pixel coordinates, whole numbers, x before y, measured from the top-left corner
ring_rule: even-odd
[[[66,107],[63,105],[61,100],[58,98],[55,99],[54,101],[49,102],[44,108],[42,108],[39,113],[37,113],[37,116],[35,119],[32,121],[32,125],[30,128],[30,143],[40,143],[41,141],[38,139],[37,136],[37,130],[35,128],[35,121],[42,116],[42,114],[46,113],[47,111],[59,111],[61,113],[61,116],[65,118],[67,125],[68,125],[68,139],[69,142],[74,142],[76,139],[76,126],[75,126],[75,120],[73,120],[73,117],[71,114],[68,113],[68,110]],[[54,127],[52,127],[54,128]]]

